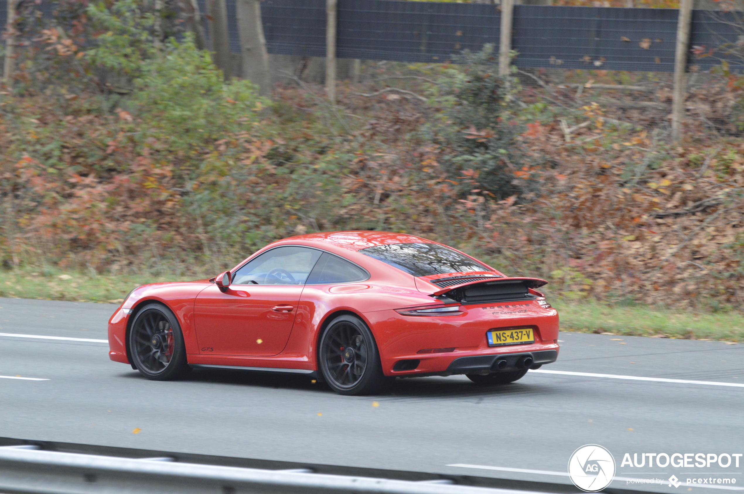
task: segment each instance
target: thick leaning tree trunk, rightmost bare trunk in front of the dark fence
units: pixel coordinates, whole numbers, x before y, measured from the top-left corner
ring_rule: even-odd
[[[240,36],[240,56],[243,62],[243,77],[260,88],[260,94],[271,92],[269,53],[266,52],[266,37],[261,22],[259,0],[237,0],[237,30]]]

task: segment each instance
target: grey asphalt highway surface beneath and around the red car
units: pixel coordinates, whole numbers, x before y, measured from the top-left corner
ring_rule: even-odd
[[[0,299],[0,333],[106,339],[114,310]],[[744,345],[560,339],[558,362],[541,371],[744,385]],[[100,342],[0,336],[0,376],[46,379],[0,378],[0,436],[564,484],[571,452],[595,443],[612,452],[620,477],[723,476],[744,490],[744,458],[739,468],[620,465],[626,452],[744,453],[741,386],[530,371],[496,389],[429,377],[397,380],[385,396],[343,397],[307,377],[242,371],[148,381],[111,362],[107,350]],[[612,487],[711,493],[619,480]]]

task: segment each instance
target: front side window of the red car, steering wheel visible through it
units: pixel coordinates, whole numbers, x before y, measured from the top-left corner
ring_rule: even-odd
[[[248,261],[233,274],[234,285],[303,285],[321,251],[277,247]]]

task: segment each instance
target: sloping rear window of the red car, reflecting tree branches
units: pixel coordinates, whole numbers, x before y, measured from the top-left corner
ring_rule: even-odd
[[[439,244],[389,244],[359,250],[413,276],[493,271],[478,261]]]

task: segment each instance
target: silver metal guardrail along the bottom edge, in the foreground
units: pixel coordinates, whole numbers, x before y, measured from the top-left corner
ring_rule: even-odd
[[[339,445],[343,448],[343,445]],[[401,481],[180,463],[174,458],[118,458],[0,446],[0,492],[44,494],[538,494],[524,490],[455,485],[446,480]],[[542,493],[545,494],[545,493]]]

